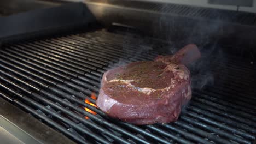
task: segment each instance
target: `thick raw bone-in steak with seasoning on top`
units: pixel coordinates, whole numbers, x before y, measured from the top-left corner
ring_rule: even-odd
[[[189,44],[172,56],[110,69],[96,104],[110,117],[133,124],[176,121],[191,99],[190,72],[183,64],[200,57],[196,45]]]

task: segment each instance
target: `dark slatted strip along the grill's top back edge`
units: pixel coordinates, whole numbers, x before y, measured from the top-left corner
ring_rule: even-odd
[[[95,0],[94,2],[101,2]],[[230,11],[223,9],[209,9],[203,7],[196,7],[191,5],[171,4],[171,3],[149,3],[149,2],[125,2],[125,1],[106,1],[108,4],[120,5],[125,7],[152,10],[155,12],[166,13],[171,15],[179,15],[184,17],[197,17],[201,19],[220,20],[226,22],[235,22],[247,25],[256,24],[256,15],[242,11]]]

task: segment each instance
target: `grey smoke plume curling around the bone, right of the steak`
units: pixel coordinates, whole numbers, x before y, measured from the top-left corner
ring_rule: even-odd
[[[191,72],[191,83],[194,89],[202,89],[207,85],[214,84],[214,74],[212,63],[225,61],[221,47],[218,42],[223,37],[223,17],[229,19],[228,15],[220,14],[218,10],[211,10],[207,16],[214,16],[214,21],[210,19],[194,19],[193,14],[187,18],[170,17],[166,15],[167,5],[162,5],[162,15],[158,19],[159,31],[172,45],[168,49],[169,53],[175,53],[181,47],[194,43],[199,46],[202,57],[194,63],[188,65]],[[200,14],[199,14],[200,15]],[[210,18],[210,17],[209,17]],[[213,19],[213,17],[211,17]]]

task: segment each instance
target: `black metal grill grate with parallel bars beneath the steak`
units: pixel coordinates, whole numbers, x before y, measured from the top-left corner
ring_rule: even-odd
[[[239,57],[212,61],[215,84],[195,88],[174,123],[136,126],[84,103],[95,104],[90,95],[113,63],[153,59],[163,44],[103,30],[9,44],[0,51],[0,95],[79,143],[252,143],[256,69]]]

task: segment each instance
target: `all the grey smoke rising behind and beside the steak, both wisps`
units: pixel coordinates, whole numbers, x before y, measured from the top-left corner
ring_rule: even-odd
[[[169,9],[167,5],[162,6],[162,12]],[[193,14],[192,14],[193,15]],[[159,33],[169,46],[165,47],[164,55],[171,55],[177,52],[181,47],[194,43],[199,46],[202,57],[188,65],[191,72],[192,87],[202,89],[207,85],[214,84],[214,74],[211,63],[214,61],[224,61],[222,49],[218,45],[218,41],[223,34],[223,22],[218,11],[211,11],[211,15],[216,16],[214,21],[205,19],[183,19],[181,17],[171,17],[162,14],[159,19],[153,23],[155,29],[150,29],[156,34]],[[155,25],[157,24],[157,25]],[[110,64],[109,68],[125,65],[133,61],[141,61],[141,55],[153,50],[153,45],[147,38],[138,38],[129,32],[123,33],[122,49],[123,57],[118,61]],[[131,52],[132,50],[132,52]],[[127,57],[128,56],[128,57]],[[217,57],[214,57],[217,56]],[[129,59],[129,60],[127,60]]]

